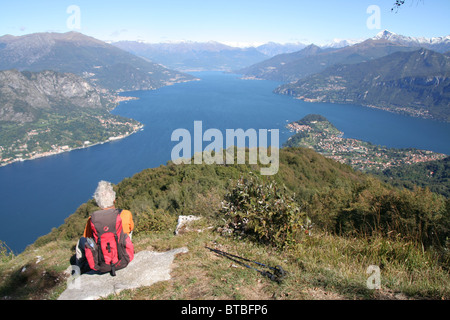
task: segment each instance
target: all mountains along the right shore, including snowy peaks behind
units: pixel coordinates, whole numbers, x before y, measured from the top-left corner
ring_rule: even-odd
[[[276,55],[236,70],[245,79],[286,82],[276,93],[352,103],[450,121],[450,36],[414,38],[384,30],[365,41]],[[341,42],[345,45],[349,42]]]

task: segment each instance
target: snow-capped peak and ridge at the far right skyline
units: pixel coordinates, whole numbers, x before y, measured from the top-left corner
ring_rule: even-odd
[[[373,37],[373,39],[388,40],[409,47],[422,47],[441,53],[450,50],[450,35],[446,37],[434,37],[434,38],[408,37],[396,34],[389,30],[383,30],[380,33],[378,33],[375,37]]]

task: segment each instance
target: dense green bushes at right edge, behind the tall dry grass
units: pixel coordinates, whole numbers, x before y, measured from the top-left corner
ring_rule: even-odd
[[[316,194],[307,212],[319,226],[337,234],[400,234],[425,247],[442,247],[450,237],[447,203],[428,189],[397,190],[369,178],[352,190],[330,189]]]

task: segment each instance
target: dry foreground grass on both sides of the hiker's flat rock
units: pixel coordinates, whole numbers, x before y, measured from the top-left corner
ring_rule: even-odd
[[[198,222],[200,224],[200,222]],[[203,219],[200,226],[216,221]],[[110,300],[267,300],[267,299],[450,299],[450,276],[430,251],[402,239],[305,235],[279,250],[208,229],[175,236],[172,230],[140,233],[136,251],[188,247],[174,261],[172,279],[122,291]],[[64,270],[75,242],[29,248],[0,264],[0,299],[55,299],[65,289]],[[219,256],[205,245],[275,266],[288,276],[281,284]],[[37,257],[42,260],[37,262]],[[381,289],[370,290],[369,265],[381,268]],[[25,271],[22,270],[26,268]]]

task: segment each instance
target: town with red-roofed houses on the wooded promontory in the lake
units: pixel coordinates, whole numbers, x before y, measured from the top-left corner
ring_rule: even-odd
[[[395,149],[373,145],[357,139],[344,138],[325,118],[300,120],[287,125],[296,134],[287,146],[314,149],[323,156],[348,164],[361,171],[383,171],[391,167],[415,164],[447,157],[445,154],[419,149]]]

